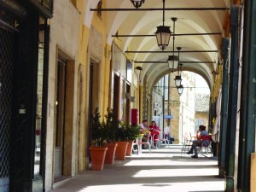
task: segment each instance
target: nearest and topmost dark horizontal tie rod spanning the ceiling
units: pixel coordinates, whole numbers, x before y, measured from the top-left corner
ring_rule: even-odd
[[[141,8],[141,9],[129,9],[129,8],[119,8],[119,9],[90,9],[90,11],[179,11],[179,10],[186,10],[186,11],[205,11],[205,10],[229,10],[229,8]]]

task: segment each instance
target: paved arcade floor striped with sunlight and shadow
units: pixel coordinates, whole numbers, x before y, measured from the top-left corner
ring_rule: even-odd
[[[114,160],[103,171],[85,171],[59,184],[51,192],[222,192],[224,179],[218,178],[218,160],[180,154],[172,145]]]

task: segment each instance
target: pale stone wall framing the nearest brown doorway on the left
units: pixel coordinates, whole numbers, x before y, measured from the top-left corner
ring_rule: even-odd
[[[57,46],[75,61],[74,103],[77,99],[78,53],[79,53],[79,11],[70,0],[55,0],[54,14],[50,20],[49,35],[49,87],[48,87],[48,117],[46,134],[46,167],[45,189],[49,191],[53,184],[54,171],[54,127],[55,127],[55,67]],[[74,104],[73,127],[76,125],[77,105]],[[73,129],[72,175],[75,171],[75,128]]]

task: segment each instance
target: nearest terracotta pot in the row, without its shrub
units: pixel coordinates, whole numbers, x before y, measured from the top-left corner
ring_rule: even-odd
[[[102,148],[90,147],[90,158],[91,158],[92,170],[102,171],[107,150],[108,150],[107,147],[102,147]]]

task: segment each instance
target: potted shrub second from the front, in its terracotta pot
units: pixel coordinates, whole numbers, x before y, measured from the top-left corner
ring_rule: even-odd
[[[104,144],[106,147],[108,147],[105,157],[105,164],[113,164],[116,148],[118,146],[118,143],[115,143],[115,134],[119,128],[119,120],[115,118],[113,109],[108,111],[108,114],[105,115],[105,119],[106,121],[102,122],[102,125],[107,133],[107,143]]]

